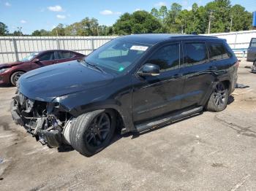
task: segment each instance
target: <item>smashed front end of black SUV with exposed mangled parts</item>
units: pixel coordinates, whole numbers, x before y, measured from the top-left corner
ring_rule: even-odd
[[[59,147],[65,142],[64,127],[72,118],[59,103],[35,101],[21,93],[12,98],[11,114],[16,124],[48,147]]]

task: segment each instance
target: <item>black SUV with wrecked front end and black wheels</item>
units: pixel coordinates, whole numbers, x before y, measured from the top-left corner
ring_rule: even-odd
[[[69,144],[90,156],[115,129],[141,132],[203,109],[227,106],[238,60],[211,36],[121,36],[85,60],[20,77],[12,117],[42,144]]]

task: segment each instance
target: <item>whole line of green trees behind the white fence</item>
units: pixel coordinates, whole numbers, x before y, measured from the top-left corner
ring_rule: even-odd
[[[113,26],[99,25],[95,18],[85,17],[80,22],[64,26],[59,24],[51,31],[36,30],[32,36],[107,36],[143,33],[211,33],[245,31],[252,29],[252,12],[247,12],[239,4],[231,5],[230,0],[214,0],[206,6],[192,4],[192,9],[182,9],[181,4],[173,3],[151,12],[143,10],[124,13]],[[10,34],[7,26],[0,22],[0,36],[20,35],[19,31]]]

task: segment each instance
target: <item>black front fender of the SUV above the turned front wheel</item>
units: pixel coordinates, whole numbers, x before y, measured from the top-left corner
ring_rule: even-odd
[[[120,114],[126,131],[134,130],[132,120],[132,89],[127,86],[121,90],[113,87],[98,87],[83,92],[63,95],[53,100],[66,108],[69,114],[78,117],[80,114],[97,109],[114,109]]]

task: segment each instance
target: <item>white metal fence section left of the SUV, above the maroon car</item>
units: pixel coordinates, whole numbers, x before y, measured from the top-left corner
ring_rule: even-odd
[[[19,61],[31,52],[73,50],[88,55],[117,36],[0,36],[0,63]]]

